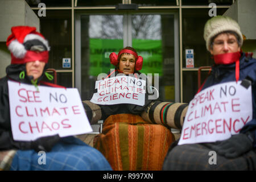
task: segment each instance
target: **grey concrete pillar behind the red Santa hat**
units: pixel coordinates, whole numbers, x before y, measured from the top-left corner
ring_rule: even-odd
[[[6,39],[13,26],[33,26],[39,31],[38,16],[24,0],[0,0],[0,78],[6,75],[5,68],[11,63]]]

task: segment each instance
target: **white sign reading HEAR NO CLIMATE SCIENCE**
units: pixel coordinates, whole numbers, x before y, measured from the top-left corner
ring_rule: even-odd
[[[135,104],[143,106],[145,102],[146,81],[131,76],[116,76],[98,80],[97,93],[91,102],[100,105]]]

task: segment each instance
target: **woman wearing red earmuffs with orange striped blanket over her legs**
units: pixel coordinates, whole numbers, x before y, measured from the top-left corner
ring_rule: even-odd
[[[146,75],[143,78],[143,74],[139,72],[142,69],[143,58],[138,56],[134,48],[125,47],[118,55],[111,53],[109,58],[115,69],[110,70],[106,78],[125,75],[145,79],[147,84]],[[97,113],[102,114],[103,129],[94,138],[94,148],[105,156],[113,170],[160,170],[168,147],[174,142],[174,135],[170,129],[163,125],[148,123],[142,118],[143,111],[155,101],[148,98],[150,93],[147,88],[146,85],[143,106],[84,103],[86,113],[91,113],[89,118],[93,118]],[[101,112],[90,112],[96,107],[100,107]]]

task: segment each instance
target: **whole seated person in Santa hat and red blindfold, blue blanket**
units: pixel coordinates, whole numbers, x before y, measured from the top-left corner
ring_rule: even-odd
[[[51,80],[46,73],[49,46],[44,36],[28,26],[12,27],[11,32],[6,42],[11,64],[0,79],[0,170],[112,170],[99,151],[75,137],[53,135],[29,142],[13,139],[7,81],[64,87],[42,81],[44,75]],[[46,152],[45,164],[38,162],[39,151]]]

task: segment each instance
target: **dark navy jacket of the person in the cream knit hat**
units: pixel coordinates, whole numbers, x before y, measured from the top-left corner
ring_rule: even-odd
[[[220,64],[213,65],[212,72],[205,81],[202,88],[208,88],[209,86],[221,84],[228,81],[236,81],[236,63],[233,64]],[[239,80],[247,79],[251,81],[251,90],[253,98],[253,119],[247,122],[241,129],[240,133],[246,133],[250,131],[254,135],[254,147],[256,147],[256,59],[245,56],[242,53],[240,57],[240,77]]]

